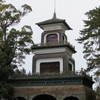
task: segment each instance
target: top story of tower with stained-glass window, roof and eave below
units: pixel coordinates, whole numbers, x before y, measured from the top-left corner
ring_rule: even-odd
[[[70,50],[71,54],[76,53],[75,47],[68,42],[65,34],[65,31],[72,30],[65,19],[58,19],[56,13],[54,13],[53,18],[36,24],[43,29],[43,32],[41,34],[41,43],[33,44],[33,50],[63,46]]]

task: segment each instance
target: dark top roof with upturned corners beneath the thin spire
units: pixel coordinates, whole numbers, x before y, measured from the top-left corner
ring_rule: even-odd
[[[36,24],[43,29],[42,27],[43,25],[58,24],[58,23],[62,23],[64,27],[66,28],[66,30],[72,30],[72,28],[66,23],[65,19],[58,19],[56,17],[56,13],[54,13],[52,19],[45,20]]]

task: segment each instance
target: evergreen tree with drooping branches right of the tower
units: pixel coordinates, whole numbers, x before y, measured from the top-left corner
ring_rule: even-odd
[[[100,81],[100,7],[85,13],[84,29],[80,31],[79,43],[83,43],[84,58],[87,60],[87,72],[93,71],[95,81]],[[97,85],[98,86],[98,85]],[[98,91],[98,87],[96,89]],[[99,99],[100,100],[100,89]]]

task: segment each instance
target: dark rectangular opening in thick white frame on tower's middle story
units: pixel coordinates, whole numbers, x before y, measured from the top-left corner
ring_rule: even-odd
[[[40,73],[59,73],[60,63],[59,62],[44,62],[40,64]]]

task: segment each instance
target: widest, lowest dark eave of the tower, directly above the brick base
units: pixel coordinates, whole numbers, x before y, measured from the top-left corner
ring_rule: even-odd
[[[45,76],[45,77],[44,77]],[[92,81],[91,80],[91,78],[87,78],[86,76],[84,76],[84,75],[68,75],[68,74],[66,74],[66,75],[61,75],[61,74],[58,74],[58,75],[53,75],[52,77],[51,77],[52,75],[33,75],[33,76],[23,76],[23,77],[12,77],[11,79],[9,79],[9,80],[12,80],[12,81],[20,81],[20,80],[22,80],[22,81],[24,81],[24,80],[35,80],[35,79],[37,79],[37,80],[39,80],[39,79],[71,79],[71,80],[74,80],[74,79],[81,79],[81,80],[88,80],[88,81],[90,81],[91,82],[91,84],[93,84],[94,83],[94,81]]]

